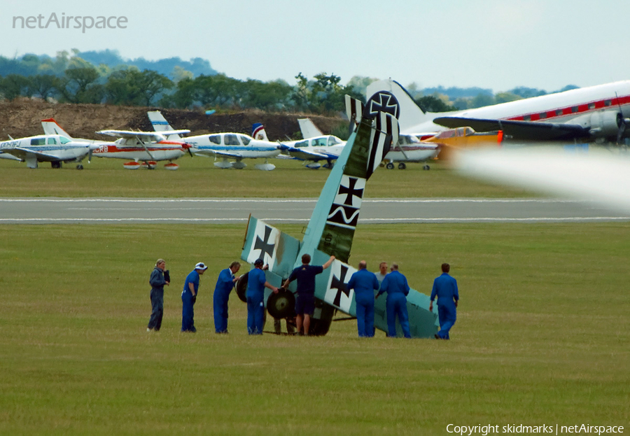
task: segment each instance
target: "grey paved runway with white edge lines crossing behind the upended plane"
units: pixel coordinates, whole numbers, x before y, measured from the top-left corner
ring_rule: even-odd
[[[316,199],[0,199],[0,224],[307,223]],[[599,206],[558,199],[364,199],[360,223],[627,221]]]

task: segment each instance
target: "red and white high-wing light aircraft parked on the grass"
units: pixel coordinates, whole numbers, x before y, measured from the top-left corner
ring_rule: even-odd
[[[172,135],[188,133],[190,130],[175,130]],[[123,166],[138,169],[143,162],[146,168],[154,169],[160,160],[168,160],[165,169],[178,169],[173,161],[190,153],[190,145],[184,141],[171,139],[159,132],[134,132],[132,130],[99,130],[97,134],[118,138],[114,143],[102,144],[94,150],[98,157],[131,160]]]

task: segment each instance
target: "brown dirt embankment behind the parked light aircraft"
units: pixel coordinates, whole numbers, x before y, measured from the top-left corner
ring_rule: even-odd
[[[102,129],[140,129],[153,131],[146,111],[158,108],[111,106],[107,104],[53,104],[37,99],[0,101],[0,141],[42,134],[41,120],[55,118],[66,132],[76,138],[104,139],[94,134]],[[174,129],[190,129],[190,135],[239,132],[251,134],[251,125],[262,122],[271,141],[287,139],[300,132],[297,118],[311,118],[325,134],[344,121],[340,118],[304,113],[265,113],[243,111],[215,113],[182,109],[159,109]],[[297,136],[296,136],[297,137]]]

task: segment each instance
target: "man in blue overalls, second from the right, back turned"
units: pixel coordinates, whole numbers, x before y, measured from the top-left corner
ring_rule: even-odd
[[[381,282],[381,289],[377,294],[377,298],[382,293],[387,293],[386,314],[387,314],[387,330],[388,337],[396,337],[396,316],[402,327],[402,334],[410,338],[409,332],[409,315],[407,314],[407,294],[409,294],[409,285],[407,277],[398,272],[398,264],[391,264],[391,272],[385,276]]]

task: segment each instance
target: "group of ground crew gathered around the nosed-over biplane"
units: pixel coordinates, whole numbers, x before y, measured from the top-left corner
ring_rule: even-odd
[[[335,260],[335,256],[330,256],[324,265],[310,265],[311,256],[302,255],[302,265],[293,269],[290,276],[283,283],[284,288],[288,288],[291,281],[297,280],[297,300],[295,302],[296,327],[298,335],[309,335],[311,316],[315,310],[315,276],[321,274]],[[247,301],[247,332],[249,335],[262,335],[262,326],[265,322],[265,288],[269,288],[273,293],[278,293],[279,288],[269,284],[265,279],[265,269],[262,259],[254,262],[254,267],[248,272],[246,301]],[[170,283],[169,271],[165,269],[166,262],[158,259],[153,272],[151,272],[151,318],[147,331],[158,331],[162,325],[164,314],[164,286]],[[235,283],[241,278],[235,274],[239,271],[241,264],[232,264],[221,271],[214,288],[214,326],[218,334],[228,333],[228,298],[234,288]],[[200,276],[208,269],[203,262],[197,263],[184,283],[181,293],[182,300],[182,332],[196,332],[194,323],[194,306],[199,290]],[[387,274],[386,262],[379,265],[379,274],[374,274],[367,270],[367,263],[361,260],[358,264],[358,271],[352,274],[347,283],[348,290],[353,289],[356,300],[356,320],[359,337],[374,336],[374,300],[383,293],[387,293],[386,314],[388,337],[396,337],[396,318],[402,327],[402,333],[410,338],[409,316],[407,314],[407,294],[409,285],[407,278],[398,271],[398,265],[391,265],[391,272]],[[450,339],[449,331],[454,325],[457,312],[456,307],[459,301],[457,281],[449,275],[450,266],[442,264],[442,275],[433,281],[433,289],[430,296],[429,310],[433,311],[433,300],[437,298],[437,314],[440,321],[440,331],[435,335],[435,339]],[[374,297],[374,290],[378,290]],[[279,320],[274,323],[276,332],[279,332]]]

